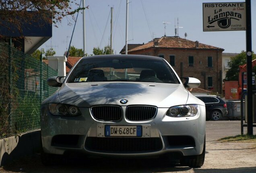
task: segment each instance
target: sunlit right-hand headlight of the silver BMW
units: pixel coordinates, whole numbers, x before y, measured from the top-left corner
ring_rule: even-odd
[[[194,117],[198,112],[198,105],[180,105],[170,107],[166,112],[169,117]]]

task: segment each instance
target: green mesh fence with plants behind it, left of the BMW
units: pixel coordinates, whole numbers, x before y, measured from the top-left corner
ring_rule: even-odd
[[[57,74],[0,42],[0,139],[40,128],[40,104],[56,91],[46,80]]]

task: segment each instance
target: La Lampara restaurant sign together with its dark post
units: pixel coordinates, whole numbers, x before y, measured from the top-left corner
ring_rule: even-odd
[[[251,0],[246,2],[203,3],[203,31],[246,30],[247,55],[247,134],[253,135],[252,117],[252,12]]]

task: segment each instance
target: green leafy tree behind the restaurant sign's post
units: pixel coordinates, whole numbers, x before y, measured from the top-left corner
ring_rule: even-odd
[[[254,54],[252,54],[252,59],[254,60]],[[246,64],[247,56],[244,50],[241,51],[237,56],[231,57],[229,61],[229,70],[226,73],[227,81],[238,81],[239,80],[239,65]],[[255,68],[254,68],[255,69]]]

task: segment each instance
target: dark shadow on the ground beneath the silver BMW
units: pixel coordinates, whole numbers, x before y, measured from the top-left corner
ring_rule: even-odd
[[[177,165],[176,165],[177,166]],[[44,166],[40,155],[28,156],[0,168],[3,173],[163,173],[189,171],[190,167],[175,167],[167,159],[102,159],[69,157]]]

